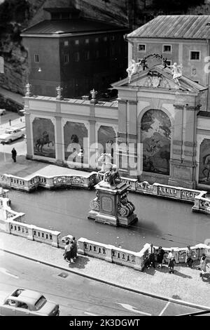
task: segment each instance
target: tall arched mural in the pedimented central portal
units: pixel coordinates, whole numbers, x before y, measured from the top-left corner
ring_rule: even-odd
[[[171,121],[162,110],[148,110],[141,119],[143,171],[169,175]]]

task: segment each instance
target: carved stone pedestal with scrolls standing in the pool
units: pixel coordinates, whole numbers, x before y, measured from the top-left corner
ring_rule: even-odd
[[[95,185],[97,197],[90,202],[91,211],[88,218],[99,223],[129,227],[137,219],[135,206],[127,200],[127,183],[110,185],[104,180]]]

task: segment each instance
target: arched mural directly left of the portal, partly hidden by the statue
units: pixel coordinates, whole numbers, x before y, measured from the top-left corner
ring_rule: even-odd
[[[111,126],[100,126],[98,131],[99,154],[106,152],[111,154],[112,163],[115,157],[116,133]]]

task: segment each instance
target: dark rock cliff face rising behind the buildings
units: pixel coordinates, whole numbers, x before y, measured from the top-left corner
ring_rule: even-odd
[[[72,4],[85,17],[127,26],[132,31],[155,15],[164,14],[155,10],[155,1],[157,0],[0,0],[0,56],[4,58],[4,74],[0,74],[0,85],[22,95],[25,93],[28,63],[20,32],[45,19],[44,7],[68,7]],[[202,2],[204,1],[201,0]],[[188,13],[208,15],[209,0],[206,0],[204,6],[196,7],[195,12],[191,10]]]

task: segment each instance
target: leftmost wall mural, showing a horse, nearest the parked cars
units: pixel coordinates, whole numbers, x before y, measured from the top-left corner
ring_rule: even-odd
[[[50,119],[35,118],[33,121],[34,154],[55,158],[55,127]]]

